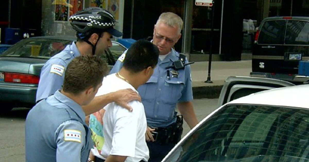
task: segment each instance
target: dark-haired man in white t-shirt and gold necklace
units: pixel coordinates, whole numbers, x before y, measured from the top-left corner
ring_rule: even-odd
[[[123,67],[118,73],[104,77],[104,87],[97,95],[131,88],[137,92],[139,85],[151,77],[158,62],[159,49],[151,42],[141,39],[132,44],[126,54]],[[151,92],[149,92],[151,93]],[[146,144],[146,115],[142,102],[131,101],[133,112],[129,112],[115,102],[104,107],[103,134],[105,142],[101,158],[105,162],[148,161],[149,150]]]

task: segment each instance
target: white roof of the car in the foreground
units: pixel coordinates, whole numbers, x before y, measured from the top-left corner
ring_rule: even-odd
[[[235,99],[227,104],[258,104],[309,108],[309,85],[275,88]]]

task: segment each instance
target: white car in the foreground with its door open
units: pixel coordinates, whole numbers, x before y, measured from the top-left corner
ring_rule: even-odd
[[[163,161],[309,161],[308,92],[309,85],[230,77],[219,99],[227,103],[189,131]]]

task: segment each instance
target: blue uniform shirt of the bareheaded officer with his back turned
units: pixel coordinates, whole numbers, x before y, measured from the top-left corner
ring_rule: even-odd
[[[26,162],[86,162],[93,147],[82,107],[60,91],[29,111],[25,143]]]

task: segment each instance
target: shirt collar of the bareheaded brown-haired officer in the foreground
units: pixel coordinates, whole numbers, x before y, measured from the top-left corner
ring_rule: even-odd
[[[54,94],[54,97],[61,103],[66,104],[70,109],[72,109],[82,120],[85,122],[85,112],[78,103],[68,98],[66,95],[62,94],[59,90],[57,90]]]

